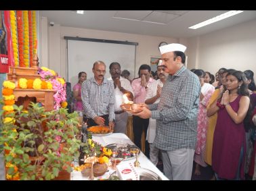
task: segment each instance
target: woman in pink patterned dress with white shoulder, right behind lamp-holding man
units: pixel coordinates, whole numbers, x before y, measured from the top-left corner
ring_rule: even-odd
[[[207,105],[213,94],[215,88],[209,83],[205,83],[205,72],[203,70],[195,70],[194,74],[198,76],[201,84],[200,103],[198,109],[198,125],[197,125],[197,141],[196,149],[194,152],[194,161],[196,162],[196,168],[194,170],[195,175],[200,175],[200,166],[207,167],[205,163],[205,144],[206,135],[208,128],[208,117],[207,117]]]

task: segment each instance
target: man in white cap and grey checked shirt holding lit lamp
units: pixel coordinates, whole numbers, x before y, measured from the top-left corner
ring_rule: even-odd
[[[186,47],[169,44],[159,47],[162,65],[169,73],[160,102],[146,105],[135,113],[142,118],[156,119],[154,146],[163,157],[164,173],[169,180],[191,180],[197,133],[200,95],[198,76],[186,69]]]

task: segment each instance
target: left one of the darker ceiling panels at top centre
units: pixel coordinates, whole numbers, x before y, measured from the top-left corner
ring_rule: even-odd
[[[131,20],[142,20],[152,11],[116,11],[114,18],[125,18]]]

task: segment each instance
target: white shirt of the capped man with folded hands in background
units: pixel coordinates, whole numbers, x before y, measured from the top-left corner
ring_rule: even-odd
[[[163,87],[163,82],[161,82],[160,79],[152,82],[151,84],[148,84],[145,101],[147,99],[150,99],[150,98],[156,96],[158,85]],[[160,98],[156,99],[156,101],[154,103],[159,103],[159,101],[160,101]],[[156,136],[156,119],[150,118],[149,124],[148,124],[148,132],[147,132],[146,140],[148,140],[149,143],[152,143],[152,142],[154,142],[155,136]]]

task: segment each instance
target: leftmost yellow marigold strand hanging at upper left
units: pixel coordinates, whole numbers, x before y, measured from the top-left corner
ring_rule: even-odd
[[[14,51],[14,65],[19,66],[18,59],[18,37],[17,37],[17,21],[16,21],[16,13],[15,11],[10,11],[10,22],[12,29],[12,47]]]

